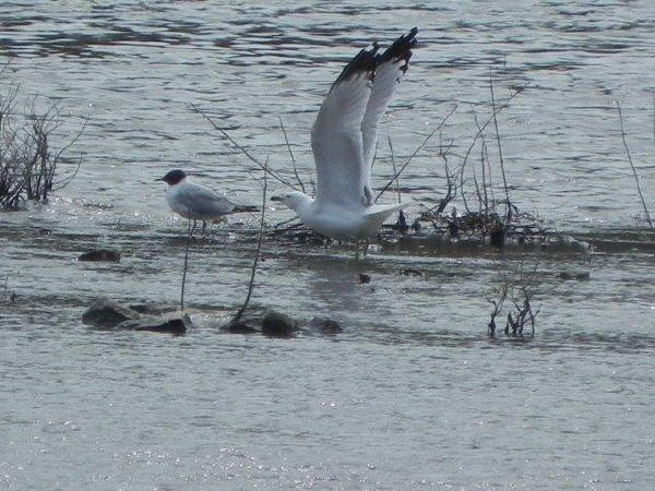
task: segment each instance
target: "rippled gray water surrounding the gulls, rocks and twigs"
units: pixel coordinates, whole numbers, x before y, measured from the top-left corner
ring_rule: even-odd
[[[0,5],[0,62],[11,58],[0,87],[57,100],[59,146],[90,117],[61,166],[82,158],[72,183],[0,214],[0,275],[16,294],[0,302],[0,487],[655,487],[654,240],[616,107],[653,209],[651,2],[405,3]],[[501,101],[527,85],[499,116],[512,199],[587,254],[383,243],[356,262],[347,246],[266,240],[253,306],[301,323],[330,315],[345,332],[228,335],[218,326],[246,295],[255,246],[258,216],[246,215],[191,246],[193,332],[81,323],[98,296],[178,301],[186,223],[154,178],[182,167],[236,201],[261,200],[253,166],[193,105],[290,176],[281,117],[308,180],[309,131],[331,82],[358,48],[414,25],[420,45],[382,143],[391,135],[404,161],[456,104],[441,142],[461,165],[475,116],[490,115],[490,71]],[[412,218],[443,194],[439,144],[402,178]],[[385,144],[378,157],[380,188]],[[272,207],[267,221],[288,217]],[[76,261],[96,247],[121,262]],[[535,336],[491,339],[486,297],[522,260],[538,261]]]

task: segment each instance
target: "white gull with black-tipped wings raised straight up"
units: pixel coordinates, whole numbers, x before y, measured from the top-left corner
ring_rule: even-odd
[[[417,32],[414,27],[398,37],[382,55],[378,55],[377,43],[362,49],[332,85],[311,130],[315,199],[298,191],[272,197],[294,209],[319,233],[334,239],[367,239],[406,205],[374,204],[370,177],[378,124],[407,71]]]

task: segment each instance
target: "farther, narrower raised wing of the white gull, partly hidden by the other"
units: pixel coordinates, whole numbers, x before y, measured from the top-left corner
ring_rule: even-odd
[[[361,121],[364,159],[367,164],[364,178],[366,185],[369,185],[373,154],[378,142],[378,124],[409,67],[412,48],[416,46],[416,33],[418,29],[414,27],[407,35],[398,37],[386,51],[376,57],[373,88]]]

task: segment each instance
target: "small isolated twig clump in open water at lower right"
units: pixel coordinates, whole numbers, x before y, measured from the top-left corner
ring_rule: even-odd
[[[496,336],[496,320],[502,313],[508,299],[512,301],[512,308],[507,316],[505,336],[522,337],[527,325],[531,327],[531,336],[535,335],[535,320],[540,310],[540,306],[533,308],[537,266],[538,261],[531,271],[526,272],[521,262],[513,274],[503,273],[497,290],[487,295],[487,301],[493,307],[491,319],[487,324],[489,336]]]

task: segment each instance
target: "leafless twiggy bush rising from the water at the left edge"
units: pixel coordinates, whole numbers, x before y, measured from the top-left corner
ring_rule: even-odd
[[[0,76],[7,64],[0,70]],[[26,201],[47,201],[52,191],[68,185],[75,177],[82,160],[68,176],[57,180],[62,156],[82,135],[81,130],[63,147],[55,149],[52,135],[60,128],[59,106],[49,104],[39,110],[38,97],[16,113],[20,86],[10,84],[0,91],[0,208],[16,209]]]

